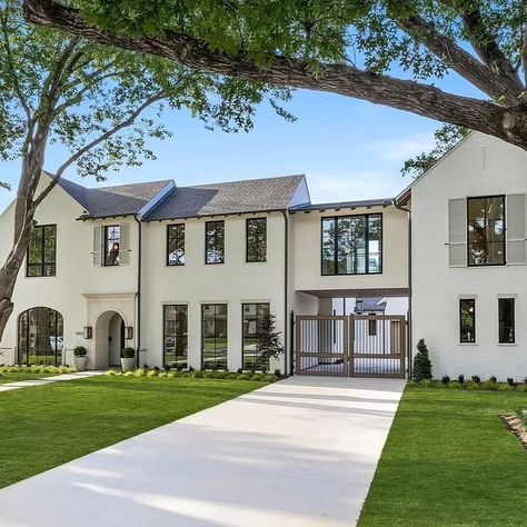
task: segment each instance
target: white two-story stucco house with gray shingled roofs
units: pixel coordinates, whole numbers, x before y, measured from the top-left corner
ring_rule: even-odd
[[[37,212],[0,362],[70,364],[81,345],[107,368],[131,346],[141,365],[250,369],[271,312],[286,352],[270,367],[288,374],[405,376],[425,338],[436,376],[520,378],[526,177],[526,152],[470,133],[395,198],[311,203],[304,176],[64,179]]]

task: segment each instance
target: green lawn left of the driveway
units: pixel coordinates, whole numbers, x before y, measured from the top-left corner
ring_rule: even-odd
[[[0,394],[0,487],[265,385],[97,376]]]

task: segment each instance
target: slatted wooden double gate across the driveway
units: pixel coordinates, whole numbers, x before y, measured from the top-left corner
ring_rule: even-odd
[[[298,316],[295,372],[405,378],[406,338],[402,316]]]

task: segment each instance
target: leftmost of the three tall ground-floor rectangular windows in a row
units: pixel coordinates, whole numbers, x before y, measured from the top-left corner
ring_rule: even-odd
[[[188,367],[188,306],[163,306],[163,365]]]

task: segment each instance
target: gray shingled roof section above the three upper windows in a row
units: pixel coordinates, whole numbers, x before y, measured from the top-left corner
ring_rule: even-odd
[[[146,220],[286,210],[304,176],[176,187]]]

